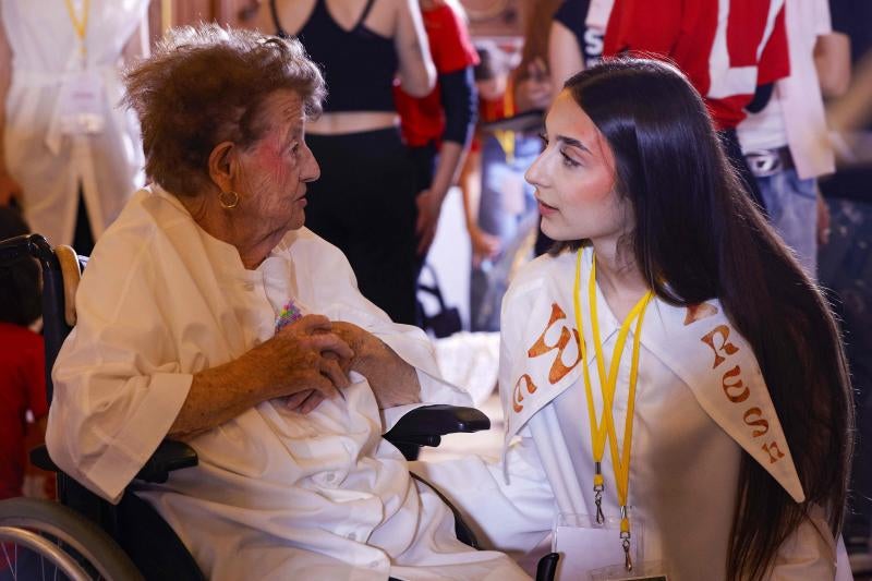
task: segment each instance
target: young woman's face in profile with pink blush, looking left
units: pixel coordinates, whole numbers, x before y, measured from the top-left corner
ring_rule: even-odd
[[[524,175],[536,189],[542,231],[552,240],[615,242],[632,228],[632,208],[615,192],[615,156],[567,90],[545,118],[545,150]]]

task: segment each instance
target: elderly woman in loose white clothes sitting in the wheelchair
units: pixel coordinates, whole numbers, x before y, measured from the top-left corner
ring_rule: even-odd
[[[302,228],[324,96],[302,46],[177,29],[126,82],[155,183],[83,277],[52,458],[117,500],[164,437],[187,438],[197,468],[135,489],[210,579],[523,578],[459,543],[380,438],[419,400],[468,398]]]

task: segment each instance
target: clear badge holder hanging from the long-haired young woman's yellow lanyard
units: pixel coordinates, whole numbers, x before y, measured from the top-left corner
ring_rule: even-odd
[[[630,558],[640,566],[649,565],[640,562],[644,555],[644,532],[643,520],[633,517]],[[560,512],[555,520],[552,538],[552,550],[560,555],[556,581],[647,579],[637,574],[641,572],[640,567],[633,567],[633,571],[628,572],[623,566],[625,554],[618,518],[606,517],[605,522],[598,524],[592,515]],[[609,577],[615,573],[622,573],[623,577]],[[594,574],[600,577],[593,577]],[[602,577],[604,574],[606,577]],[[652,579],[659,581],[657,577]]]

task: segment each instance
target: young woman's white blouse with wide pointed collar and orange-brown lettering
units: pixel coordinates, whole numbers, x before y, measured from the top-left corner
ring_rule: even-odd
[[[502,460],[470,457],[413,465],[446,492],[491,546],[532,562],[535,558],[530,558],[530,552],[550,548],[558,513],[595,513],[594,462],[581,373],[586,364],[598,421],[602,397],[586,304],[590,270],[591,251],[586,250],[580,286],[580,331],[591,346],[586,362],[581,361],[574,340],[579,330],[573,313],[574,253],[537,258],[518,274],[504,300],[499,387],[507,449]],[[619,322],[596,290],[608,370]],[[715,334],[712,346],[701,340],[710,332]],[[720,332],[728,334],[729,350],[724,349],[727,340],[722,343]],[[631,330],[614,401],[619,450],[632,339]],[[743,370],[740,378],[748,394],[734,397],[736,403],[729,399],[736,391],[725,390],[722,374],[738,367]],[[761,419],[766,421],[765,431]],[[756,361],[719,303],[711,301],[694,311],[653,300],[641,329],[630,463],[628,504],[637,537],[638,524],[644,522],[637,561],[665,561],[669,579],[678,581],[726,577],[742,449],[794,498],[803,499]],[[608,446],[602,468],[603,510],[606,517],[617,518]],[[583,550],[577,553],[583,555]],[[815,507],[779,549],[772,578],[832,579],[835,560],[836,541],[823,511]],[[839,573],[850,578],[843,567]]]

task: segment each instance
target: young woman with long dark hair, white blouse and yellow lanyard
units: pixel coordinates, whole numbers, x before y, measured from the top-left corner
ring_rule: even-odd
[[[669,64],[613,60],[566,83],[544,137],[526,178],[558,242],[504,302],[507,451],[420,471],[504,549],[559,517],[585,570],[832,579],[843,348],[699,94]]]

